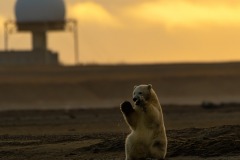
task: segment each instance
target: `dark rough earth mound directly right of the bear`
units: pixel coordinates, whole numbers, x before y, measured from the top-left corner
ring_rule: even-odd
[[[169,131],[168,156],[233,156],[240,154],[240,126]]]

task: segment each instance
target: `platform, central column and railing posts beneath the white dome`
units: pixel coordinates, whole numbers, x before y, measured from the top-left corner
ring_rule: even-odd
[[[75,64],[79,64],[78,24],[75,19],[56,22],[15,22],[12,20],[4,23],[4,47],[9,50],[9,37],[17,32],[31,32],[32,47],[34,50],[47,51],[48,31],[68,31],[73,34]],[[46,60],[47,61],[47,60]]]

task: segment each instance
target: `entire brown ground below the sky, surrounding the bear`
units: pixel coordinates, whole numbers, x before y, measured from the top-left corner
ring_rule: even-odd
[[[134,85],[151,83],[164,112],[167,160],[239,160],[239,68],[0,67],[0,159],[124,159],[129,128],[119,104],[132,99]]]

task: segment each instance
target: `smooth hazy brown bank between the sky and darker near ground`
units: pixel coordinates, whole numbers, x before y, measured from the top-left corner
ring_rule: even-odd
[[[99,108],[151,83],[162,104],[239,102],[240,63],[0,67],[0,110]],[[16,106],[17,105],[17,106]]]

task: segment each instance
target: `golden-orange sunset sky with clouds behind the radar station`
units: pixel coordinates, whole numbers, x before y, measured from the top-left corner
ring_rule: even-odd
[[[3,22],[15,0],[0,1]],[[66,0],[78,20],[81,63],[240,61],[239,0]],[[49,33],[48,46],[74,63],[70,33]],[[10,36],[10,49],[30,49],[30,34]]]

